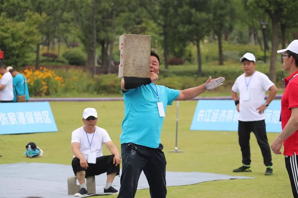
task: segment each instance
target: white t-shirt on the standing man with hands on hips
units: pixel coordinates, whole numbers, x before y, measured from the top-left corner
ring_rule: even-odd
[[[260,121],[265,119],[264,113],[259,114],[258,107],[264,104],[265,94],[274,85],[265,74],[255,71],[252,76],[240,75],[232,91],[240,94],[239,99],[239,121]],[[249,100],[244,101],[246,90],[249,91]]]

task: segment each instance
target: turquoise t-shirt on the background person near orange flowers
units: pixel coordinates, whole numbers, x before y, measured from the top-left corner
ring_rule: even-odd
[[[25,83],[25,86],[24,86]],[[26,94],[25,94],[26,90]],[[29,91],[27,85],[27,79],[22,74],[18,74],[13,77],[13,102],[17,102],[17,95],[26,95],[26,100],[29,100]]]

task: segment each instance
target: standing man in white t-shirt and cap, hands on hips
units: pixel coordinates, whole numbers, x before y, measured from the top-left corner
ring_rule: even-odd
[[[231,94],[239,112],[238,136],[243,166],[233,170],[233,172],[252,172],[249,139],[250,133],[253,132],[263,155],[266,166],[265,175],[272,175],[272,159],[266,135],[264,111],[275,98],[277,87],[265,74],[254,70],[256,58],[252,53],[244,54],[240,61],[244,73],[236,79]],[[268,90],[269,96],[264,102]]]

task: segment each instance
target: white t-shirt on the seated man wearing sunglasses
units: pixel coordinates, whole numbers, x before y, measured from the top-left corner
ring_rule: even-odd
[[[80,151],[86,160],[88,160],[88,154],[90,152],[89,142],[91,144],[91,152],[92,153],[96,152],[96,157],[101,157],[103,156],[103,153],[102,153],[103,144],[105,142],[111,141],[111,138],[105,129],[100,128],[98,126],[95,126],[95,127],[96,127],[95,132],[92,134],[86,133],[83,129],[83,126],[72,132],[71,143],[73,142],[80,143]],[[93,134],[94,134],[94,137],[93,137]],[[89,142],[88,142],[87,135],[89,138]],[[93,137],[93,140],[92,140],[92,137]],[[73,157],[75,157],[75,155]]]

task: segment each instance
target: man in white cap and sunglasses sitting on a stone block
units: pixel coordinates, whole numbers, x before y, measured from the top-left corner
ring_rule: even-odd
[[[107,131],[96,126],[97,112],[94,108],[86,108],[83,112],[84,126],[72,132],[72,169],[80,183],[81,189],[76,197],[87,195],[85,177],[107,173],[107,182],[104,187],[105,194],[117,194],[112,187],[116,175],[119,175],[120,157],[117,147],[111,141]],[[112,155],[103,156],[103,144]]]

